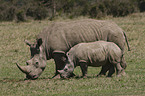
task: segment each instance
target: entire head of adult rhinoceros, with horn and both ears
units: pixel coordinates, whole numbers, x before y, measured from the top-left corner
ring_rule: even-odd
[[[26,74],[26,79],[37,79],[46,67],[46,58],[42,48],[42,39],[37,39],[34,44],[25,40],[26,44],[30,46],[31,59],[26,62],[27,66],[17,67]]]

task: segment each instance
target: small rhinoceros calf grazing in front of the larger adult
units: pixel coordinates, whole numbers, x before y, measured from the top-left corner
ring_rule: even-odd
[[[66,54],[65,67],[58,70],[62,78],[69,78],[76,66],[80,66],[82,75],[86,77],[87,67],[104,66],[109,70],[108,77],[111,77],[117,71],[117,76],[125,74],[120,63],[123,63],[123,54],[121,49],[113,42],[96,41],[91,43],[80,43],[72,47]],[[124,62],[125,63],[125,62]]]

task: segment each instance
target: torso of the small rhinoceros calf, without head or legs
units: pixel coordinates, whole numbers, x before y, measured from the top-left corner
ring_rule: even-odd
[[[121,49],[113,42],[96,41],[91,43],[80,43],[69,51],[69,58],[75,64],[88,62],[90,66],[101,66],[106,62],[119,62]]]

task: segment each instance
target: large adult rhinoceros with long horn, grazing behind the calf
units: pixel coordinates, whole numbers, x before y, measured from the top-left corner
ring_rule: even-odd
[[[74,45],[81,42],[104,40],[117,44],[124,52],[125,41],[128,41],[124,31],[115,23],[103,20],[77,20],[70,22],[55,22],[45,28],[37,37],[36,42],[30,46],[31,59],[27,66],[18,68],[26,74],[28,79],[37,79],[44,71],[46,60],[54,59],[57,70],[63,69],[66,52]],[[129,49],[129,45],[128,45]],[[123,68],[126,65],[121,65]],[[102,67],[103,70],[103,67]]]

